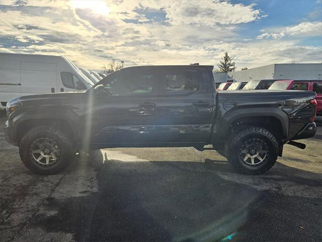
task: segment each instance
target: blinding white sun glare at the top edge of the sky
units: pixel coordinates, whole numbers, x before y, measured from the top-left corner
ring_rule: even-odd
[[[88,9],[99,15],[108,15],[111,11],[103,0],[70,0],[70,5],[74,9]]]

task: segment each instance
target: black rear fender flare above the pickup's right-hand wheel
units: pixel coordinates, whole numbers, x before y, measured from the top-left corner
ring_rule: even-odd
[[[225,137],[229,131],[230,125],[237,119],[243,117],[275,117],[282,125],[283,139],[287,139],[289,134],[289,116],[278,107],[254,107],[239,108],[228,111],[221,119],[219,127],[220,137]]]

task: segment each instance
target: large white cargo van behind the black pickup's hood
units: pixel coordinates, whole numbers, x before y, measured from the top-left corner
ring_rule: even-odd
[[[0,53],[0,109],[15,97],[86,90],[92,85],[63,56]]]

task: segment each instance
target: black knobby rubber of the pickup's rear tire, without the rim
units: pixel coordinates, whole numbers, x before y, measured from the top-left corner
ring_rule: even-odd
[[[267,144],[268,156],[259,165],[248,165],[240,158],[240,147],[248,139],[259,138]],[[249,127],[231,135],[225,142],[225,156],[228,162],[239,172],[249,175],[262,174],[275,164],[278,156],[278,141],[268,130],[261,127]]]

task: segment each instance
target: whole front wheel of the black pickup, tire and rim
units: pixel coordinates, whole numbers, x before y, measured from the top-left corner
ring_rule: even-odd
[[[66,168],[75,154],[72,142],[61,131],[39,126],[20,141],[19,154],[24,165],[37,174],[56,174]]]

